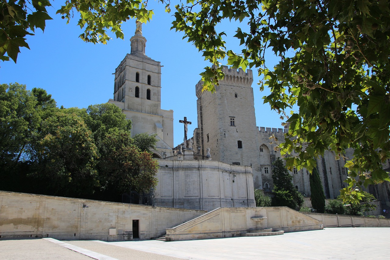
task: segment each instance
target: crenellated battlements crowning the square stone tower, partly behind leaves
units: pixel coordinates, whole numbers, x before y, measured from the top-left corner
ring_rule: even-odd
[[[239,68],[232,69],[228,66],[222,66],[222,71],[225,74],[222,82],[220,82],[220,86],[222,85],[238,85],[241,87],[252,87],[253,83],[253,73],[252,69],[247,69],[246,72]],[[196,95],[199,98],[202,95],[203,82],[199,80],[199,82],[195,86]],[[216,87],[217,91],[218,88]]]

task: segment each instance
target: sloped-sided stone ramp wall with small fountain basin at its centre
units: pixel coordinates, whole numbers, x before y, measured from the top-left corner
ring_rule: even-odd
[[[174,228],[167,241],[236,237],[248,230],[296,232],[323,229],[322,221],[288,207],[218,208]]]

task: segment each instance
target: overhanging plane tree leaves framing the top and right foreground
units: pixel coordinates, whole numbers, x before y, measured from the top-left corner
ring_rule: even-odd
[[[170,11],[170,1],[159,2]],[[44,7],[50,2],[35,0],[32,8],[26,1],[1,3],[0,58],[16,61],[18,46],[27,45],[24,35],[44,28],[49,19]],[[262,77],[260,90],[271,92],[264,102],[289,125],[277,148],[282,155],[293,154],[286,158],[289,169],[311,172],[317,157],[330,149],[336,159],[347,161],[341,196],[353,203],[364,196],[363,185],[390,180],[382,169],[390,157],[388,0],[187,0],[172,5],[172,29],[183,32],[211,63],[201,73],[204,91],[215,91],[226,58],[233,68],[254,68]],[[80,38],[92,43],[106,43],[108,30],[123,38],[122,22],[146,22],[153,14],[147,1],[137,0],[68,0],[58,13],[67,21],[80,14],[78,24],[85,30]],[[241,22],[235,35],[241,52],[227,50],[225,32],[216,30],[229,20]],[[266,50],[278,58],[276,65],[266,62]],[[355,150],[352,157],[345,157],[347,148]]]

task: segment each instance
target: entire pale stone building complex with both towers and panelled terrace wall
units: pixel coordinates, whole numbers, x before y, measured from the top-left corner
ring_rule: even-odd
[[[156,134],[153,157],[160,170],[156,205],[212,210],[218,207],[254,207],[254,189],[272,191],[271,163],[280,152],[271,135],[284,141],[285,128],[256,126],[252,70],[223,66],[225,78],[216,93],[195,85],[197,128],[193,137],[175,147],[173,110],[161,109],[161,64],[145,55],[146,39],[137,24],[131,53],[115,69],[113,103],[133,122],[131,134]],[[186,119],[184,118],[184,121]],[[185,133],[186,135],[186,133]],[[347,151],[347,157],[353,151]],[[326,198],[336,198],[345,185],[344,160],[327,151],[317,160]],[[390,161],[383,164],[390,168]],[[309,172],[293,169],[296,189],[310,196]],[[390,207],[388,182],[368,191]]]

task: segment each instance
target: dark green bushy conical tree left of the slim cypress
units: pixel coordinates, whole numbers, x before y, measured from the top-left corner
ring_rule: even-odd
[[[293,176],[290,175],[280,158],[272,162],[273,206],[287,206],[297,208],[303,205],[303,196],[293,185]]]

